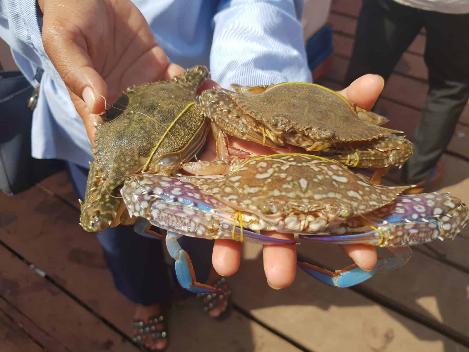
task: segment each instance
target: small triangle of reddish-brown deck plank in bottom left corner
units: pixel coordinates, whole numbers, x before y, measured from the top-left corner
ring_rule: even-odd
[[[0,309],[0,346],[2,352],[44,351],[23,329]]]

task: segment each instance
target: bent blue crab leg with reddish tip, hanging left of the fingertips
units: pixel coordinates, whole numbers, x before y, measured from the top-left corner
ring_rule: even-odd
[[[187,254],[177,242],[180,237],[182,237],[182,235],[167,231],[166,247],[171,257],[176,260],[174,267],[179,284],[185,289],[196,293],[225,293],[225,291],[216,289],[215,287],[197,282],[189,254]]]

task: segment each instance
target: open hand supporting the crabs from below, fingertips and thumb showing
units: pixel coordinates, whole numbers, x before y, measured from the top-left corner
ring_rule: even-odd
[[[347,88],[340,91],[350,102],[370,110],[383,90],[384,80],[378,75],[365,75],[356,79]],[[236,139],[234,146],[253,154],[272,154],[272,149],[252,142]],[[215,143],[211,138],[207,149],[201,156],[202,160],[216,158]],[[277,238],[293,239],[293,234],[275,231],[262,231],[264,235]],[[241,260],[241,246],[239,242],[227,239],[215,240],[212,253],[212,264],[215,270],[223,276],[233,275],[239,268]],[[364,270],[371,270],[377,261],[376,249],[369,245],[340,245],[355,263]],[[296,248],[295,245],[265,245],[263,248],[264,271],[268,284],[272,288],[280,289],[290,285],[295,279]]]

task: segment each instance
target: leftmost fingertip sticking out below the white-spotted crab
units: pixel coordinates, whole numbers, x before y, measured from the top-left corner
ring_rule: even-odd
[[[221,276],[233,275],[241,261],[241,243],[230,239],[216,239],[213,245],[212,265]]]

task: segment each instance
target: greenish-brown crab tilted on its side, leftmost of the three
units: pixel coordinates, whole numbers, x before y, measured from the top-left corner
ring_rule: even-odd
[[[209,76],[196,66],[167,82],[128,88],[96,126],[80,224],[100,232],[132,224],[119,190],[140,172],[174,175],[205,143],[210,121],[196,103],[197,89]]]

